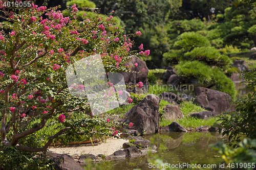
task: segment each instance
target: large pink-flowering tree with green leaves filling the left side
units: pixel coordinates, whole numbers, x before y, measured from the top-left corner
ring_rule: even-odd
[[[0,25],[2,144],[23,151],[46,151],[60,134],[78,133],[79,126],[89,126],[86,119],[68,120],[68,113],[89,109],[89,105],[87,98],[69,93],[66,68],[75,61],[100,53],[106,72],[126,71],[129,68],[123,65],[131,59],[128,56],[133,42],[112,28],[115,24],[112,16],[101,18],[95,14],[89,19],[84,13],[83,21],[77,21],[75,4],[70,9],[72,15],[63,17],[57,7],[47,9],[31,3],[31,7],[15,9],[7,8],[4,3],[0,1],[0,9],[7,16],[4,18],[13,24]],[[11,30],[10,33],[6,33],[4,27]],[[35,119],[39,123],[31,125]],[[44,128],[49,119],[56,119],[65,126],[49,136],[44,146],[19,144],[22,138]],[[109,120],[105,120],[104,124],[108,123]],[[115,135],[117,131],[112,128],[112,133]]]

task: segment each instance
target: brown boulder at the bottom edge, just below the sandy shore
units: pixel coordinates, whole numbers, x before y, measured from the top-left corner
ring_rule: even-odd
[[[83,170],[83,168],[72,158],[66,154],[56,154],[53,152],[47,152],[47,157],[49,157],[56,170]]]

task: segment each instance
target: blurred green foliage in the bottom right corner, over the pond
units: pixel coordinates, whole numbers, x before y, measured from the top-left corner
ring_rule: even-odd
[[[244,138],[238,143],[238,148],[229,147],[221,141],[210,144],[210,147],[221,155],[229,167],[249,170],[252,165],[255,166],[256,139]]]

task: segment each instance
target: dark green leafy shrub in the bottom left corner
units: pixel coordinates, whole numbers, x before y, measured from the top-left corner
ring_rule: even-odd
[[[5,170],[54,169],[46,153],[19,151],[15,147],[2,148],[3,145],[0,145],[0,168]]]

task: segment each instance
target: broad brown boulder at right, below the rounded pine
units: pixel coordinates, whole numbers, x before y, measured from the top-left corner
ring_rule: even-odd
[[[206,110],[221,114],[223,111],[230,109],[232,100],[227,93],[204,87],[195,88],[195,93],[197,97],[193,103],[202,106]],[[234,105],[231,106],[231,111],[235,111]]]

